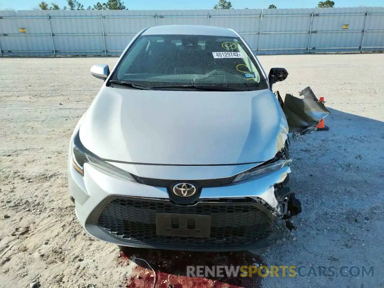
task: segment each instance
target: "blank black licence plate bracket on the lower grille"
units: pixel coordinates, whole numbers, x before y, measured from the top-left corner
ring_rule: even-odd
[[[210,233],[210,215],[156,213],[156,234],[159,236],[209,238]]]

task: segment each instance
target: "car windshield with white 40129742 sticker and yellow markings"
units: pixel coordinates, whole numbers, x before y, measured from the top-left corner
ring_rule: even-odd
[[[211,86],[230,91],[266,89],[267,83],[252,56],[240,38],[141,35],[110,80],[157,89],[174,86]]]

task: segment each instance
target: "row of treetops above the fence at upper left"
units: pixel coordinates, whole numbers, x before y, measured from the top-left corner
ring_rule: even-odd
[[[39,8],[41,10],[128,10],[122,0],[108,0],[103,4],[97,2],[93,7],[88,6],[88,8],[84,8],[84,5],[77,0],[67,0],[67,4],[68,6],[60,8],[56,3],[48,5],[46,2],[41,2]]]

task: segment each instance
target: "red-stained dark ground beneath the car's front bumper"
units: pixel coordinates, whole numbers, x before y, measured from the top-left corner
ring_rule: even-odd
[[[262,263],[260,257],[250,252],[184,252],[121,247],[120,265],[131,262],[133,257],[146,260],[156,272],[156,288],[257,288],[260,277],[187,277],[187,266],[242,266]],[[137,266],[122,285],[129,288],[152,288],[154,273],[148,265],[134,259]]]

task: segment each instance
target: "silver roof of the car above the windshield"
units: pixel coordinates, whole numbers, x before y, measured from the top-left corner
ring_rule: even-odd
[[[238,37],[228,28],[204,25],[162,25],[145,30],[142,35],[208,35]]]

